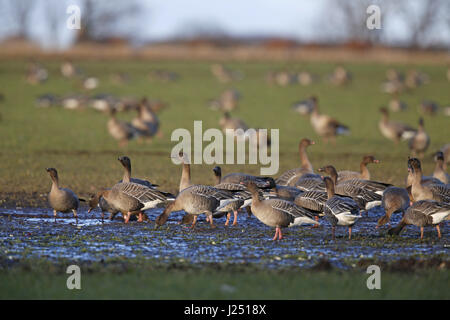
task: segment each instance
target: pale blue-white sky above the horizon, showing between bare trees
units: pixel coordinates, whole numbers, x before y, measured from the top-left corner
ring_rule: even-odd
[[[8,0],[0,0],[0,12],[1,1]],[[63,18],[67,16],[67,5],[80,5],[80,0],[29,1],[35,4],[31,38],[44,47],[50,47],[55,42],[49,36],[47,25],[42,18],[46,4],[48,6],[51,1],[58,1],[58,10]],[[108,4],[108,0],[97,1]],[[327,23],[333,18],[333,9],[329,6],[332,1],[334,0],[140,0],[142,7],[138,22],[141,27],[134,36],[140,42],[160,41],[186,35],[197,27],[223,30],[233,36],[273,35],[303,41],[320,41],[320,37],[338,36],[342,31],[339,27],[336,28],[335,24]],[[374,0],[375,3],[376,1]],[[450,0],[448,1],[450,3]],[[424,1],[410,0],[407,3],[420,14]],[[82,5],[80,7],[83,9]],[[384,23],[384,14],[382,12],[382,27],[388,31],[385,32],[387,40],[392,43],[404,40],[408,35],[408,26],[402,23],[401,19],[389,19],[389,23]],[[67,30],[64,19],[62,21],[57,42],[61,48],[65,48],[70,46],[76,32]],[[123,28],[127,28],[126,23]],[[12,22],[0,23],[0,38],[13,30]],[[438,26],[432,37],[450,46],[449,25]]]

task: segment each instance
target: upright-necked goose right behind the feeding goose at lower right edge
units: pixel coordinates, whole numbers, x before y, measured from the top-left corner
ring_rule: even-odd
[[[449,186],[444,184],[422,185],[422,166],[419,159],[408,159],[408,171],[412,171],[413,174],[411,193],[414,201],[435,200],[438,202],[450,202]]]

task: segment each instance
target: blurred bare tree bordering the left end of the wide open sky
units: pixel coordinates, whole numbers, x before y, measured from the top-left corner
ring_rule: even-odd
[[[118,34],[132,36],[135,31],[133,21],[139,21],[141,5],[142,2],[137,0],[82,1],[77,42],[97,41]]]

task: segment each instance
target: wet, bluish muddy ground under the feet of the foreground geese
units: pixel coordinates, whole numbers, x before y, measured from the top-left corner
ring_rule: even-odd
[[[321,219],[320,228],[309,226],[284,229],[284,239],[272,241],[274,229],[254,216],[240,213],[237,226],[224,226],[225,218],[215,219],[210,228],[204,216],[195,229],[178,225],[183,212],[172,213],[168,222],[155,230],[155,218],[162,209],[147,211],[149,220],[124,224],[119,218],[102,223],[100,213],[80,210],[78,224],[71,214],[58,214],[56,222],[49,209],[0,209],[0,256],[3,260],[44,258],[57,262],[68,259],[98,262],[111,258],[153,259],[161,263],[224,263],[252,264],[278,269],[310,268],[328,261],[338,269],[351,269],[362,260],[382,263],[404,259],[438,258],[449,263],[448,222],[441,226],[442,239],[435,228],[425,229],[425,239],[419,239],[419,229],[406,227],[400,236],[388,236],[387,227],[375,229],[383,215],[380,207],[364,213],[347,239],[347,228],[337,228],[336,241],[331,240],[331,228]],[[401,214],[394,214],[395,225]]]

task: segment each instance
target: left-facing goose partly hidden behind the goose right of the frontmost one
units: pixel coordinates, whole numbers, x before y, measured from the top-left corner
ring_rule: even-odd
[[[330,165],[320,168],[319,172],[325,172],[331,176],[336,194],[351,197],[361,209],[369,210],[381,205],[381,195],[364,186],[364,184],[368,186],[370,180],[351,179],[337,183],[336,169]]]

